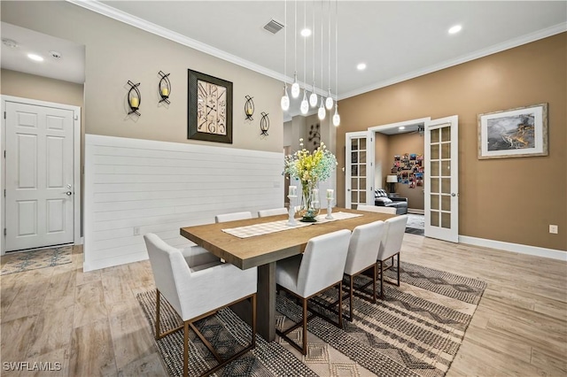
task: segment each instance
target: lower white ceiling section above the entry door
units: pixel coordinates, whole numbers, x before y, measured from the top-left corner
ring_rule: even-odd
[[[2,68],[80,84],[85,81],[83,45],[5,22],[2,22],[1,27],[3,40],[8,38],[18,42],[18,47],[14,48],[2,43]],[[53,58],[50,55],[52,50],[59,52],[61,58]],[[27,58],[28,53],[43,57],[43,62]]]

